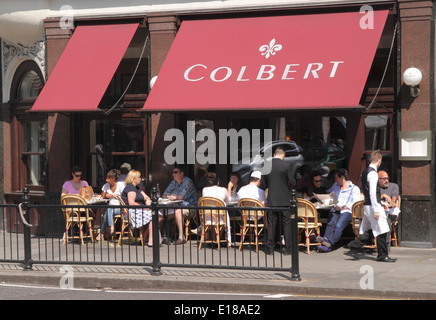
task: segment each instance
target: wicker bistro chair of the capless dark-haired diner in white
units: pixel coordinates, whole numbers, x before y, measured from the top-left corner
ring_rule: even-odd
[[[201,245],[203,243],[213,243],[217,242],[218,250],[221,249],[220,243],[227,242],[226,236],[224,239],[220,238],[220,232],[224,230],[224,235],[227,233],[227,210],[225,210],[226,204],[217,198],[212,197],[201,197],[198,199],[199,207],[217,207],[224,208],[223,209],[203,209],[199,208],[198,213],[200,215],[200,223],[202,226],[201,239],[198,246],[198,250],[201,250]],[[216,236],[216,240],[213,238],[211,240],[205,240],[205,234],[209,231],[214,231],[214,236]]]

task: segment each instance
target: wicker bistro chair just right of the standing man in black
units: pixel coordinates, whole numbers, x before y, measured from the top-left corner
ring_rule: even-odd
[[[314,204],[308,200],[297,199],[298,210],[298,237],[301,239],[301,233],[304,231],[305,241],[299,243],[299,246],[307,247],[307,254],[310,254],[310,246],[319,246],[319,243],[310,243],[310,236],[316,233],[320,235],[321,223],[318,222],[318,211]]]

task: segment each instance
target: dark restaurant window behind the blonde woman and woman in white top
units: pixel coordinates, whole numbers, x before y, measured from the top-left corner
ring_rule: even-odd
[[[134,118],[89,122],[88,183],[101,188],[106,183],[106,173],[119,170],[123,163],[129,163],[146,177],[145,123],[144,119]]]

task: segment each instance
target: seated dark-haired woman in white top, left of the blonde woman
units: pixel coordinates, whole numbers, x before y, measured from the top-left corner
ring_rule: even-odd
[[[110,206],[119,206],[120,202],[116,199],[117,196],[121,196],[124,189],[124,183],[118,182],[120,171],[116,169],[110,170],[106,174],[106,183],[101,188],[101,197],[103,199],[109,199]],[[103,221],[101,223],[100,234],[97,236],[97,241],[104,239],[106,228],[109,226],[111,234],[114,233],[114,215],[120,214],[120,208],[108,208],[103,214]]]

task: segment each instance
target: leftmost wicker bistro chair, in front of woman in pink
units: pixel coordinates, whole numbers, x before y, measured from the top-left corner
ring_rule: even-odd
[[[89,208],[84,208],[83,206],[87,206],[86,200],[75,194],[66,194],[61,197],[61,205],[63,206],[77,206],[74,208],[62,208],[65,216],[65,233],[64,233],[64,241],[65,245],[68,240],[80,239],[82,245],[84,245],[84,238],[90,238],[91,242],[94,242],[94,235],[92,231],[92,223],[94,218],[90,214]],[[89,233],[83,234],[83,225],[88,225]],[[79,227],[79,236],[74,235],[74,226]]]

